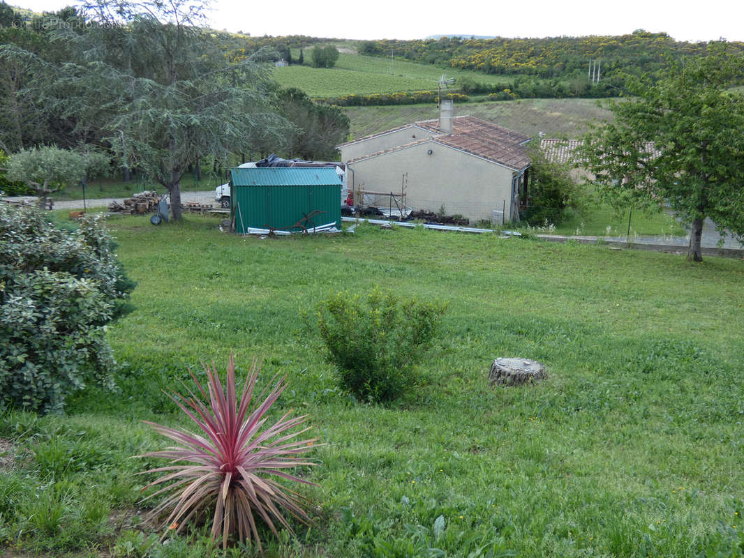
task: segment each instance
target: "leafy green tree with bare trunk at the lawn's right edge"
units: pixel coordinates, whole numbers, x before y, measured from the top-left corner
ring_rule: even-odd
[[[702,260],[706,217],[744,237],[744,96],[730,89],[743,75],[742,53],[711,43],[664,75],[630,77],[634,96],[610,103],[613,121],[581,149],[613,202],[669,205],[690,225],[691,260]]]

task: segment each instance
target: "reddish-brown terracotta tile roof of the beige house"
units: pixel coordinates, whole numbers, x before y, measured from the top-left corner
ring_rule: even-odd
[[[411,145],[420,144],[424,141],[436,141],[437,143],[487,159],[488,161],[493,161],[494,163],[501,164],[504,167],[510,167],[514,170],[522,170],[523,168],[528,167],[531,162],[530,157],[527,155],[527,151],[525,150],[525,144],[530,141],[529,136],[473,116],[458,116],[452,118],[452,134],[443,133],[439,128],[439,121],[434,119],[414,122],[407,126],[385,130],[385,132],[369,135],[366,138],[360,138],[356,141],[375,138],[379,135],[384,135],[399,129],[405,129],[409,126],[416,126],[420,129],[426,130],[426,132],[432,132],[432,135],[430,138],[393,147],[389,150],[380,151],[378,153],[371,153],[370,155],[353,159],[353,161],[360,161],[368,157],[382,155],[383,153],[388,153],[403,147],[411,147]],[[339,147],[356,143],[356,141],[350,141]]]

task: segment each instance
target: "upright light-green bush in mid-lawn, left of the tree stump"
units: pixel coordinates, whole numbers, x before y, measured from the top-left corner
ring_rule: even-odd
[[[399,301],[375,289],[339,292],[318,305],[318,327],[339,385],[372,402],[394,400],[415,382],[414,365],[431,347],[446,304]]]

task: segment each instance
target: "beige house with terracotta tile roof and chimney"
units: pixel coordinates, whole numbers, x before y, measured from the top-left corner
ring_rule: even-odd
[[[474,118],[420,121],[338,147],[356,205],[405,205],[481,219],[519,220],[527,194],[530,138]]]

